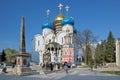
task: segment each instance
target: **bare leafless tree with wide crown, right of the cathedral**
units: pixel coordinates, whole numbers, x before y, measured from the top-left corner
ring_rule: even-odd
[[[97,37],[94,36],[89,29],[86,29],[83,32],[78,31],[76,34],[76,43],[78,44],[78,48],[82,49],[84,59],[86,59],[86,46],[94,44],[95,42],[97,42]]]

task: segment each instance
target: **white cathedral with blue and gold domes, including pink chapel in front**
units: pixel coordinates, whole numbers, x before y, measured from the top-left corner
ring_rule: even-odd
[[[74,19],[68,14],[69,6],[66,6],[66,16],[62,14],[62,4],[59,4],[60,13],[53,22],[49,21],[47,12],[46,23],[42,25],[42,34],[36,34],[33,38],[33,47],[39,54],[39,64],[64,63],[76,64],[80,51],[76,43],[76,31]]]

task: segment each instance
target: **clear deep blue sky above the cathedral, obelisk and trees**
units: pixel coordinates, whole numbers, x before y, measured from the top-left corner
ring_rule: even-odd
[[[115,39],[120,37],[120,0],[0,0],[0,51],[6,48],[19,50],[20,25],[25,18],[26,50],[32,52],[34,35],[42,33],[46,21],[46,10],[50,9],[49,19],[54,21],[59,14],[74,18],[74,28],[81,32],[90,29],[98,41],[107,39],[112,31]]]

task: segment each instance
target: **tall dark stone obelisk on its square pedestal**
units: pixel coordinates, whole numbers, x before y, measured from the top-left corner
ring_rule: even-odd
[[[31,69],[28,67],[29,57],[30,55],[26,53],[26,48],[25,48],[25,24],[24,24],[24,17],[22,16],[19,52],[17,53],[17,59],[16,59],[17,75],[28,75],[30,73]]]

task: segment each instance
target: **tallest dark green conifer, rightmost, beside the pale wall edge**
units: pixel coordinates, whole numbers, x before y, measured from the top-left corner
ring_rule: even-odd
[[[106,61],[114,62],[115,61],[115,41],[112,35],[112,32],[109,32],[106,44]]]

